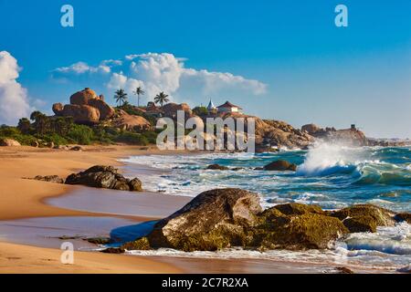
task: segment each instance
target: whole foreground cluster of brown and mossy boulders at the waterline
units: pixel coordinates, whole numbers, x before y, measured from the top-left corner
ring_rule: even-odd
[[[241,189],[201,193],[155,224],[149,235],[122,245],[121,250],[325,249],[344,235],[375,232],[376,226],[410,218],[372,204],[324,211],[317,205],[286,203],[263,211],[259,202],[257,193]]]

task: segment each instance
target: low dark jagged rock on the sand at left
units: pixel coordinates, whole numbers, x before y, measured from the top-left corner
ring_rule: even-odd
[[[66,179],[66,184],[82,184],[94,188],[120,191],[142,192],[142,182],[122,176],[112,166],[96,165],[85,172],[72,173]]]

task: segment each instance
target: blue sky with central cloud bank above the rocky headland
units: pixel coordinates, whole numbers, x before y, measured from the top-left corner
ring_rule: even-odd
[[[64,4],[74,7],[72,28],[60,26]],[[338,4],[348,27],[334,26]],[[16,58],[30,109],[49,110],[84,87],[111,100],[116,86],[141,81],[150,87],[143,102],[163,89],[192,106],[229,99],[296,127],[356,123],[368,136],[404,138],[410,14],[409,0],[0,0],[0,51]],[[110,59],[122,65],[105,75],[99,66]],[[80,61],[81,74],[70,67]]]

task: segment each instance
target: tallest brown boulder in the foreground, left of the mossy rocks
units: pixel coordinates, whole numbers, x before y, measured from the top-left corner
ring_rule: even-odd
[[[257,193],[240,189],[200,193],[181,210],[163,219],[148,235],[152,247],[184,251],[245,245],[248,226],[261,212]]]

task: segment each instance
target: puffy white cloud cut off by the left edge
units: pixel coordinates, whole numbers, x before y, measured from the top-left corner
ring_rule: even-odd
[[[27,90],[16,81],[19,70],[16,58],[0,51],[0,124],[16,124],[32,110]]]

